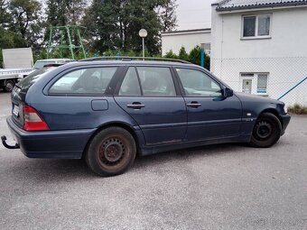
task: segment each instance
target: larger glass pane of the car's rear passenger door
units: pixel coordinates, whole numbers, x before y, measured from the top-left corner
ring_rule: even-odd
[[[163,67],[137,67],[136,69],[144,96],[176,96],[171,69]]]

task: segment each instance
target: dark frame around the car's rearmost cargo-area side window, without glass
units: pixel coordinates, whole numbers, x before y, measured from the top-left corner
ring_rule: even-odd
[[[116,68],[116,71],[113,77],[110,79],[107,85],[107,89],[104,93],[51,93],[50,92],[51,87],[58,80],[60,80],[60,78],[64,77],[67,74],[70,74],[70,72],[78,71],[80,69],[98,69],[98,68]],[[107,97],[107,96],[113,96],[113,92],[115,88],[114,82],[118,78],[120,71],[122,71],[122,66],[120,65],[87,65],[87,66],[72,67],[70,69],[65,69],[64,71],[60,72],[55,77],[53,77],[51,81],[43,88],[42,91],[44,95],[51,96],[51,97]]]

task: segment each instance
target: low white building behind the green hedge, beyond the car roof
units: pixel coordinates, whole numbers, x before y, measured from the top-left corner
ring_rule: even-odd
[[[181,47],[189,53],[195,46],[204,44],[206,53],[210,50],[210,29],[162,32],[162,53],[172,51],[178,54]]]

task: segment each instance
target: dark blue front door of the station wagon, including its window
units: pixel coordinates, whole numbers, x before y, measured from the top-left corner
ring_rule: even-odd
[[[200,69],[175,71],[188,110],[188,141],[240,134],[242,108],[236,96],[223,97],[219,83]]]

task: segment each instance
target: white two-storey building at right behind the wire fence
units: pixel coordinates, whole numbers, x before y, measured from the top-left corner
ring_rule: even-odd
[[[210,63],[237,91],[282,96],[307,77],[307,0],[213,4]],[[307,105],[307,80],[282,100]]]

